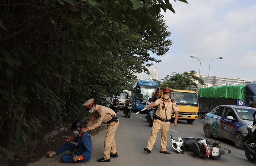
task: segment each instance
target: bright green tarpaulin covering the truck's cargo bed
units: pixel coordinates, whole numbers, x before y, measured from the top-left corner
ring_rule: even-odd
[[[223,87],[200,88],[199,96],[214,99],[244,100],[245,85],[226,85]]]

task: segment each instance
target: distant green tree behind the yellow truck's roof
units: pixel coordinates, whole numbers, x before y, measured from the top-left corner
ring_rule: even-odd
[[[190,72],[172,73],[172,76],[166,76],[164,79],[161,79],[162,82],[158,81],[159,87],[170,87],[172,89],[179,90],[190,90],[197,92],[197,83],[198,77],[196,76],[195,70]],[[205,85],[203,79],[199,80],[201,85]]]

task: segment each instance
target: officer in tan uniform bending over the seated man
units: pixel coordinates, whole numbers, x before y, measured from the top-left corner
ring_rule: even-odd
[[[101,123],[107,123],[108,129],[105,136],[105,150],[103,157],[98,162],[110,162],[110,157],[117,157],[115,132],[119,125],[119,119],[116,113],[108,107],[98,105],[94,103],[94,99],[86,101],[83,105],[87,111],[91,113],[90,120],[87,124],[87,128],[83,129],[82,132],[93,130],[101,125]],[[97,119],[97,122],[94,121]]]

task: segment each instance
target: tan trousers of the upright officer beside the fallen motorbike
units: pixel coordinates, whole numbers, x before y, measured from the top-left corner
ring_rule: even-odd
[[[157,133],[161,130],[161,152],[166,151],[167,146],[167,135],[170,128],[170,122],[162,122],[161,120],[155,119],[152,126],[152,131],[148,140],[147,148],[151,151],[155,140],[157,139]]]

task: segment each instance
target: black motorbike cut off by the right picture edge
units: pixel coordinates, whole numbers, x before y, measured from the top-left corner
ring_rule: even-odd
[[[256,112],[253,113],[253,117],[254,117],[253,125],[256,124],[255,113]],[[254,131],[255,128],[256,126],[253,126],[253,128],[248,128],[247,126],[248,134],[243,138],[243,142],[246,142],[245,148],[244,148],[245,156],[249,161],[253,161],[253,162],[256,161],[256,135],[254,133],[256,132]]]

